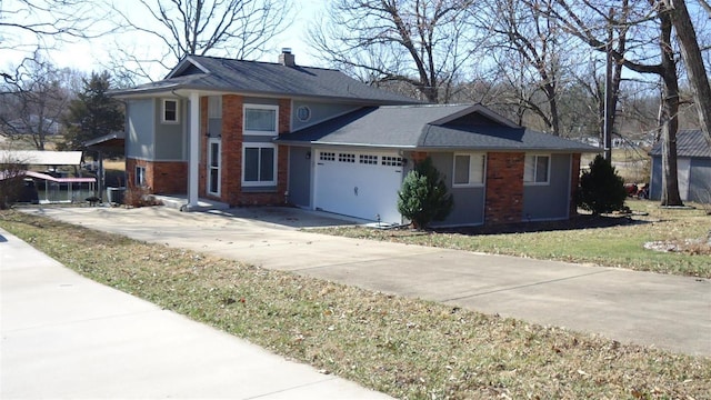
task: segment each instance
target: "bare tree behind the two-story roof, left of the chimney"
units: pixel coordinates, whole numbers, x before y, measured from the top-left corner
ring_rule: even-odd
[[[151,54],[117,46],[123,56],[117,64],[130,63],[129,76],[149,79],[151,64],[169,70],[188,54],[258,58],[291,22],[291,0],[137,0],[111,7],[119,16],[117,29],[161,44]]]

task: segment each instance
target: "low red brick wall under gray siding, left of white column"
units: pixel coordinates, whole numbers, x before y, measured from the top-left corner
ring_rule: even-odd
[[[136,167],[146,168],[146,186],[151,193],[176,194],[188,191],[188,163],[182,161],[126,160],[128,186],[136,183]]]

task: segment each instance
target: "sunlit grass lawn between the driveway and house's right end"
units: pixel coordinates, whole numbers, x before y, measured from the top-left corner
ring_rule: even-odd
[[[570,222],[523,223],[457,231],[420,232],[362,227],[324,228],[316,231],[350,238],[711,278],[711,247],[693,242],[705,239],[711,230],[711,216],[705,210],[661,209],[659,203],[643,200],[628,200],[627,204],[635,211],[631,218],[593,219],[583,216]],[[654,241],[682,244],[684,251],[661,252],[644,248],[644,243]]]

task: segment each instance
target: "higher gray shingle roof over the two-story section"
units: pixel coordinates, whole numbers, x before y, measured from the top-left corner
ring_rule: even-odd
[[[130,96],[177,89],[330,98],[378,104],[420,103],[419,100],[371,87],[332,69],[287,67],[281,63],[203,56],[187,57],[161,81],[117,91],[114,94]]]

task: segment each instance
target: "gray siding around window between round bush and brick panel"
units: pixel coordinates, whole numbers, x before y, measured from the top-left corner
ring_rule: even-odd
[[[484,188],[452,188],[454,153],[431,153],[432,164],[442,176],[449,192],[454,200],[452,212],[443,221],[435,221],[433,227],[474,226],[484,222]],[[408,164],[408,167],[411,167]]]

